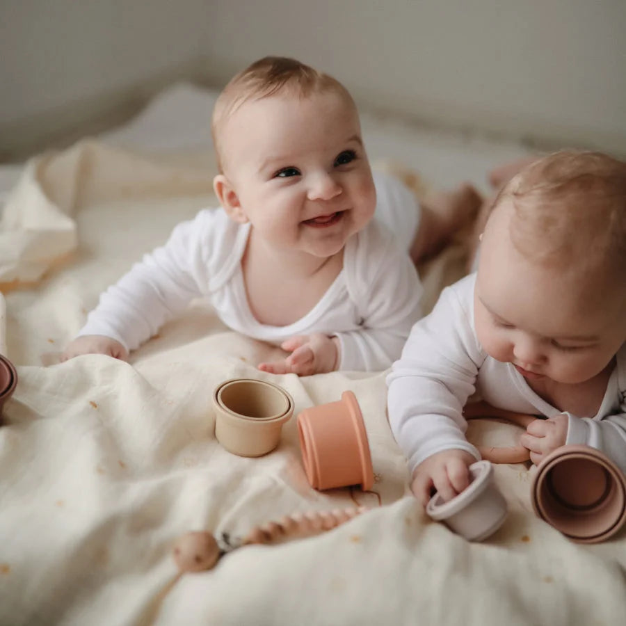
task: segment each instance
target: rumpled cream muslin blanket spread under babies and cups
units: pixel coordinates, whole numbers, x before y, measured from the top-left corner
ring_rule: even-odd
[[[102,289],[215,203],[213,170],[199,154],[147,157],[86,142],[31,161],[10,195],[0,282],[19,384],[0,428],[0,624],[624,623],[624,533],[596,546],[563,538],[531,512],[527,467],[497,467],[511,511],[485,543],[426,518],[385,418],[385,373],[262,374],[255,364],[276,349],[228,331],[202,301],[129,363],[58,363]],[[295,419],[263,458],[223,450],[211,391],[236,376],[282,385],[296,414],[353,390],[372,492],[312,490]],[[517,436],[486,422],[470,430],[482,443]],[[371,511],[177,577],[170,549],[186,531],[240,535],[284,514],[355,503]]]

